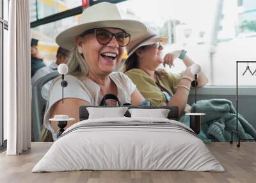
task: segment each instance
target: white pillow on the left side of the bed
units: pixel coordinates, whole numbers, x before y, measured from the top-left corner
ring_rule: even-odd
[[[128,107],[86,107],[89,119],[125,117]]]

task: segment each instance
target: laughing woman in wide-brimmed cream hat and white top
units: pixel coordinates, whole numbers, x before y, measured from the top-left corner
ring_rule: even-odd
[[[61,80],[57,79],[51,86],[44,116],[44,125],[54,139],[59,128],[49,118],[60,114],[75,118],[74,122],[68,122],[68,127],[79,121],[79,106],[99,106],[107,93],[116,95],[122,103],[143,103],[145,99],[131,79],[113,71],[122,60],[125,46],[146,31],[141,22],[123,20],[115,4],[99,3],[84,10],[79,25],[57,36],[58,45],[70,50],[70,58],[64,102],[61,102]],[[46,138],[45,131],[42,139]]]

